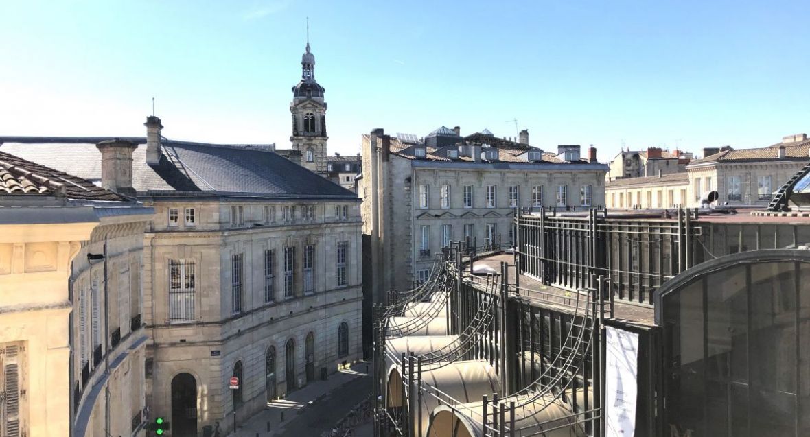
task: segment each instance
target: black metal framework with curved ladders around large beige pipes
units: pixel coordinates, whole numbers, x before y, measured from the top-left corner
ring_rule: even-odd
[[[603,435],[608,279],[583,272],[560,299],[522,288],[515,264],[475,276],[465,243],[374,307],[375,436]]]

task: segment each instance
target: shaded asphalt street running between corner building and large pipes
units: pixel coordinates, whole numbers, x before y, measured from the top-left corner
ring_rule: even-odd
[[[356,378],[332,390],[284,426],[281,437],[316,437],[329,431],[352,408],[369,396],[371,376]]]

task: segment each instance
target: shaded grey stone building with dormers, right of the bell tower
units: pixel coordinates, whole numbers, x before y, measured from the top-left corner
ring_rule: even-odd
[[[464,138],[457,129],[442,127],[424,140],[382,129],[362,138],[358,194],[377,293],[424,281],[433,255],[450,241],[508,247],[516,208],[604,205],[608,166],[595,148],[581,158],[579,146],[556,153],[528,146],[527,132],[511,142],[488,132]]]

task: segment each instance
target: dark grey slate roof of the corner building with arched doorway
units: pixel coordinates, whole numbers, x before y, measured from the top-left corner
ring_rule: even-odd
[[[89,180],[101,178],[96,140],[0,137],[0,151]],[[126,138],[130,139],[130,138]],[[92,141],[87,141],[92,140]],[[267,197],[356,197],[355,193],[270,151],[269,145],[217,145],[164,139],[157,165],[146,163],[146,138],[132,155],[132,185],[148,191],[249,193]]]

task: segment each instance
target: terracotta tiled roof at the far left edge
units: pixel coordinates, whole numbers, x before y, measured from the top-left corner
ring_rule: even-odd
[[[126,202],[89,180],[0,151],[0,196],[43,195],[74,200]]]

